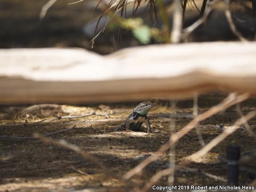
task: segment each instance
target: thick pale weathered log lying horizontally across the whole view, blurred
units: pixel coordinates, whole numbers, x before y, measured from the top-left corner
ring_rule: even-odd
[[[81,103],[256,94],[256,43],[149,45],[101,56],[83,49],[0,50],[0,104]]]

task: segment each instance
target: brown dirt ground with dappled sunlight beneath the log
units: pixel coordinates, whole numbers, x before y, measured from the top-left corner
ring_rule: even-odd
[[[218,104],[225,96],[216,93],[200,96],[199,113]],[[99,158],[110,171],[121,177],[168,141],[170,124],[175,125],[175,132],[178,132],[192,120],[192,99],[176,101],[175,111],[171,110],[169,101],[153,100],[153,102],[155,106],[148,114],[152,127],[152,132],[149,134],[147,130],[113,131],[117,124],[125,121],[139,102],[77,106],[46,105],[33,108],[1,106],[0,132],[1,135],[31,137],[35,132],[44,135],[76,125],[79,129],[54,134],[50,138],[64,139],[81,147]],[[255,109],[255,103],[255,98],[243,102],[243,112],[246,114]],[[92,111],[95,111],[96,115],[56,119],[56,115],[83,115]],[[201,122],[199,130],[203,141],[208,143],[222,132],[216,124],[228,126],[238,118],[236,107],[233,106]],[[44,121],[40,122],[42,120]],[[251,119],[249,124],[256,133],[256,119]],[[157,171],[166,168],[169,164],[167,151],[157,161],[133,176],[129,182],[123,182],[105,174],[96,164],[79,154],[56,145],[45,145],[38,139],[0,138],[0,143],[0,191],[70,191],[84,188],[101,191],[136,191]],[[214,147],[206,156],[177,171],[175,185],[227,185],[225,182],[227,166],[219,161],[218,155],[225,154],[227,146],[233,143],[240,146],[242,154],[255,149],[255,139],[243,129],[238,130]],[[175,145],[176,164],[186,160],[188,155],[200,148],[202,146],[198,134],[196,129],[193,129]],[[249,185],[256,178],[254,159],[247,159],[242,163],[240,185]],[[214,179],[202,172],[218,178]],[[167,185],[167,177],[162,178],[157,184]]]

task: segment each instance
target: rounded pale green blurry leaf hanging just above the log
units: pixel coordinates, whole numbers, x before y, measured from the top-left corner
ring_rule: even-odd
[[[134,28],[132,33],[134,37],[140,41],[140,43],[148,44],[150,42],[150,28],[147,25],[141,25],[140,27]]]

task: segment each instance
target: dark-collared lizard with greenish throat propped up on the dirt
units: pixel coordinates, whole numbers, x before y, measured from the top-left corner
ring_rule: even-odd
[[[125,129],[126,131],[139,131],[143,123],[147,124],[148,132],[151,132],[150,123],[147,117],[148,111],[154,106],[150,101],[141,102],[136,108],[133,109],[132,113],[126,119],[124,124],[118,125],[114,131],[120,131]]]

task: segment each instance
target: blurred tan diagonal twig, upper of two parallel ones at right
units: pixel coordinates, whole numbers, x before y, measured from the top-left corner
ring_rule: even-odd
[[[194,118],[189,124],[187,124],[179,132],[177,132],[176,134],[172,134],[172,137],[169,140],[169,142],[162,145],[162,147],[156,151],[155,155],[152,155],[152,156],[148,157],[147,159],[142,161],[140,164],[138,164],[136,167],[131,169],[129,172],[125,173],[123,178],[125,180],[129,179],[133,175],[140,172],[148,164],[157,160],[159,158],[159,156],[161,156],[164,153],[164,151],[166,151],[169,148],[169,145],[172,145],[172,144],[176,143],[177,141],[179,141],[180,138],[182,138],[185,134],[187,134],[190,130],[192,130],[199,122],[203,121],[204,119],[207,119],[207,118],[211,117],[212,115],[215,115],[216,113],[219,113],[220,111],[223,111],[224,109],[226,109],[226,108],[228,108],[228,107],[230,107],[230,106],[232,106],[236,103],[244,101],[248,98],[249,98],[249,94],[247,94],[247,93],[239,95],[239,96],[236,96],[235,93],[231,93],[220,104],[218,104],[218,105],[210,108],[206,112],[196,116],[196,118]]]

